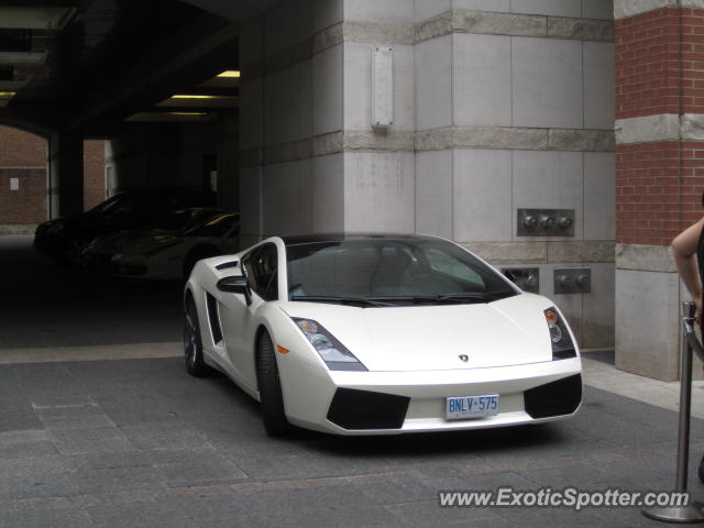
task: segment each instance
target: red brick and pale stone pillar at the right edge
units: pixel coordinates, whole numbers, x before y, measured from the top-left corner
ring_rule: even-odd
[[[616,365],[670,381],[685,295],[668,246],[702,216],[704,9],[653,7],[615,4]]]

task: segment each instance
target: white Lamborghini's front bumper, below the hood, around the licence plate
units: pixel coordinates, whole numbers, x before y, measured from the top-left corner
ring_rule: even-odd
[[[398,435],[553,421],[568,418],[576,413],[582,398],[581,371],[579,358],[524,365],[453,371],[329,371],[327,381],[319,375],[315,385],[307,385],[306,391],[298,391],[286,383],[288,385],[284,386],[286,414],[293,424],[338,435]],[[308,394],[311,392],[311,386],[316,387],[312,391],[315,397]],[[542,386],[544,388],[537,388]],[[331,413],[331,404],[338,388],[353,389],[353,392],[343,395],[346,397],[345,405],[350,407],[348,415],[341,414],[339,410],[343,408],[340,405],[339,396],[338,411]],[[384,420],[381,419],[381,421],[369,421],[381,425],[381,427],[363,428],[364,416],[358,416],[356,419],[350,418],[350,415],[354,415],[352,408],[354,407],[354,398],[349,396],[359,394],[354,392],[381,395],[381,398],[376,400],[373,396],[372,399],[361,400],[366,402],[362,406],[369,406],[370,413],[378,415],[380,406],[384,405],[384,395],[406,398],[407,407],[400,419],[396,420],[392,427],[384,427]],[[448,420],[446,418],[446,398],[487,394],[499,395],[497,415],[463,420]],[[548,395],[547,402],[546,394]],[[389,420],[393,422],[393,414],[399,413],[398,405],[400,403],[393,397],[387,399],[391,407],[396,405],[396,410],[389,410]],[[560,404],[561,400],[562,404]],[[361,414],[364,413],[365,410],[362,409]]]

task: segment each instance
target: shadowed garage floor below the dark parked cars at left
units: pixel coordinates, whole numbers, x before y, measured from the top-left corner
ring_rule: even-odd
[[[4,362],[143,356],[180,342],[180,287],[114,280],[59,265],[32,237],[0,235],[0,350]],[[135,350],[139,349],[139,350]]]

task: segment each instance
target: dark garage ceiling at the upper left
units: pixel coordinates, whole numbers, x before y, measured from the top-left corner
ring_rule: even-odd
[[[0,123],[108,138],[130,116],[173,111],[157,105],[174,94],[237,100],[237,84],[207,81],[239,69],[239,25],[272,3],[0,0]]]

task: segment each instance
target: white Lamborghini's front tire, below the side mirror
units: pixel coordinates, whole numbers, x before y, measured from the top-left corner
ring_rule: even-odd
[[[278,377],[274,343],[266,330],[260,336],[256,349],[256,380],[264,428],[270,436],[280,437],[288,431],[290,426],[284,411],[284,396],[282,382]]]

